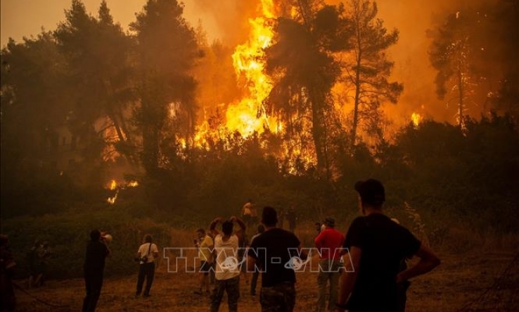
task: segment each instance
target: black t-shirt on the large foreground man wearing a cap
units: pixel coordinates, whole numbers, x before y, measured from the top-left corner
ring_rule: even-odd
[[[362,251],[357,282],[348,307],[354,311],[396,311],[396,277],[404,257],[416,254],[421,242],[387,216],[372,213],[353,220],[344,247]],[[347,274],[347,273],[346,273]]]

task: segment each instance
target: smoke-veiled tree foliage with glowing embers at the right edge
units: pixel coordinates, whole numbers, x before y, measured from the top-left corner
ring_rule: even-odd
[[[437,69],[437,96],[456,99],[459,127],[468,117],[489,110],[517,118],[518,1],[485,1],[449,12],[428,33],[430,62]],[[474,108],[478,108],[474,110]]]

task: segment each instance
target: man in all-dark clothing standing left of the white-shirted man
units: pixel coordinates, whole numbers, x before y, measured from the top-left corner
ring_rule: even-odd
[[[105,258],[110,254],[110,249],[103,243],[104,240],[101,242],[100,230],[90,232],[90,239],[84,259],[84,284],[87,295],[83,300],[83,312],[96,311],[101,287],[103,287]]]

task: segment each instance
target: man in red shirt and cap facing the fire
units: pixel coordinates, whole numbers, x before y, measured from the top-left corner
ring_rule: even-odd
[[[344,243],[344,235],[335,230],[335,219],[328,217],[324,220],[325,226],[314,239],[315,247],[319,252],[319,297],[317,299],[317,311],[324,311],[326,306],[326,285],[329,282],[330,296],[328,297],[328,310],[335,308],[338,299],[338,285],[340,270],[342,268],[341,251]]]

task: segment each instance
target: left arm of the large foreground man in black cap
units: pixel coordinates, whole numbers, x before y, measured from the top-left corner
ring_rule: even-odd
[[[340,275],[339,280],[339,301],[335,310],[340,312],[345,311],[344,305],[350,298],[355,282],[357,282],[362,249],[354,246],[351,247],[349,256],[350,261],[345,261],[345,272]]]

